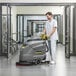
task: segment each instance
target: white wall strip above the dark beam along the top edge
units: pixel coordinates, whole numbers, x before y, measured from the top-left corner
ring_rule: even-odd
[[[66,3],[66,2],[76,2],[76,0],[0,0],[0,2],[10,2],[10,3]]]

